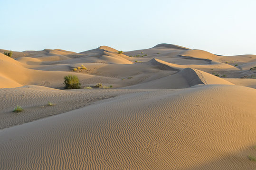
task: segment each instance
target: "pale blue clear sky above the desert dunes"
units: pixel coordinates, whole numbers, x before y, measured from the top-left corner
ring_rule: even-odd
[[[0,49],[256,54],[256,0],[0,0]]]

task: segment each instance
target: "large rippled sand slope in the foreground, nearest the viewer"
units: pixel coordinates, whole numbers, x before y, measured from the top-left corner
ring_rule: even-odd
[[[0,168],[250,170],[255,96],[199,85],[99,101],[0,130]]]

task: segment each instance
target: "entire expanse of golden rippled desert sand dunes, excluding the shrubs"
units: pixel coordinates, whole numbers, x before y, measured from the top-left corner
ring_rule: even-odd
[[[256,55],[172,44],[4,51],[0,170],[256,168]],[[67,75],[81,89],[65,90]],[[113,88],[84,89],[97,83]]]

